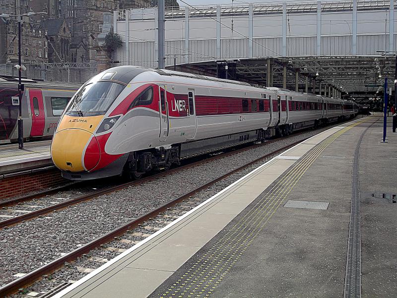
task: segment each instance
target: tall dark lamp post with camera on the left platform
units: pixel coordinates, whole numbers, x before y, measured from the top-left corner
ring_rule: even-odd
[[[10,16],[17,16],[18,17],[18,64],[14,67],[18,70],[18,98],[19,98],[19,116],[18,116],[18,148],[23,149],[23,119],[22,119],[22,93],[24,90],[24,85],[22,84],[21,72],[26,71],[26,67],[22,65],[21,62],[21,24],[22,24],[22,17],[24,16],[33,16],[33,15],[40,15],[40,14],[47,14],[47,12],[34,12],[29,11],[28,13],[18,14],[18,15],[10,15],[8,13],[0,14],[0,17],[5,19],[9,19]]]

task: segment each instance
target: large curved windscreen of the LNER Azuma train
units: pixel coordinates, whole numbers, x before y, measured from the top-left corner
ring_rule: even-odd
[[[89,83],[74,95],[66,115],[104,115],[124,88],[122,84],[109,81]]]

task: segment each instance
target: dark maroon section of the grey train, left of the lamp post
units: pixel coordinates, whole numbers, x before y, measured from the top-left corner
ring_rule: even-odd
[[[0,90],[0,140],[10,138],[16,125],[19,113],[19,101],[13,101],[12,97],[18,96],[18,90],[5,88]]]

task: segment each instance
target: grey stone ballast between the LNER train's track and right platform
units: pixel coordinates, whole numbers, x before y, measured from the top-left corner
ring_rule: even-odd
[[[0,286],[15,280],[17,277],[14,274],[28,273],[58,258],[63,253],[67,253],[186,193],[190,189],[196,188],[260,156],[314,136],[329,128],[308,131],[296,136],[293,135],[274,143],[210,161],[141,185],[100,196],[94,200],[80,203],[47,216],[4,228],[0,230],[0,250],[2,251],[0,257]],[[191,208],[199,205],[202,201],[216,194],[262,163],[263,161],[250,166],[199,192],[189,200]],[[182,214],[188,210],[190,209],[185,208]],[[180,216],[182,214],[173,215]],[[145,233],[154,232],[154,230],[149,231],[144,228],[142,228],[142,231]],[[140,240],[139,237],[131,237],[131,239]],[[117,247],[117,245],[120,246],[120,243],[110,243],[108,245]],[[132,245],[128,244],[120,248],[128,248]],[[118,252],[96,249],[69,266],[97,268],[101,264],[88,260],[90,255],[111,259],[118,254]],[[54,273],[51,276],[51,281],[50,278],[43,279],[33,285],[30,290],[36,292],[44,289],[48,290],[56,285],[53,282],[54,280],[60,283],[67,280],[78,280],[84,275],[86,273],[79,273],[75,270],[64,268]]]

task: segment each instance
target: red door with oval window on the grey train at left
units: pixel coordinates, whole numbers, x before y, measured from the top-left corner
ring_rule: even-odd
[[[41,137],[44,134],[46,119],[44,115],[43,94],[40,89],[30,89],[30,111],[32,112],[31,137]]]

